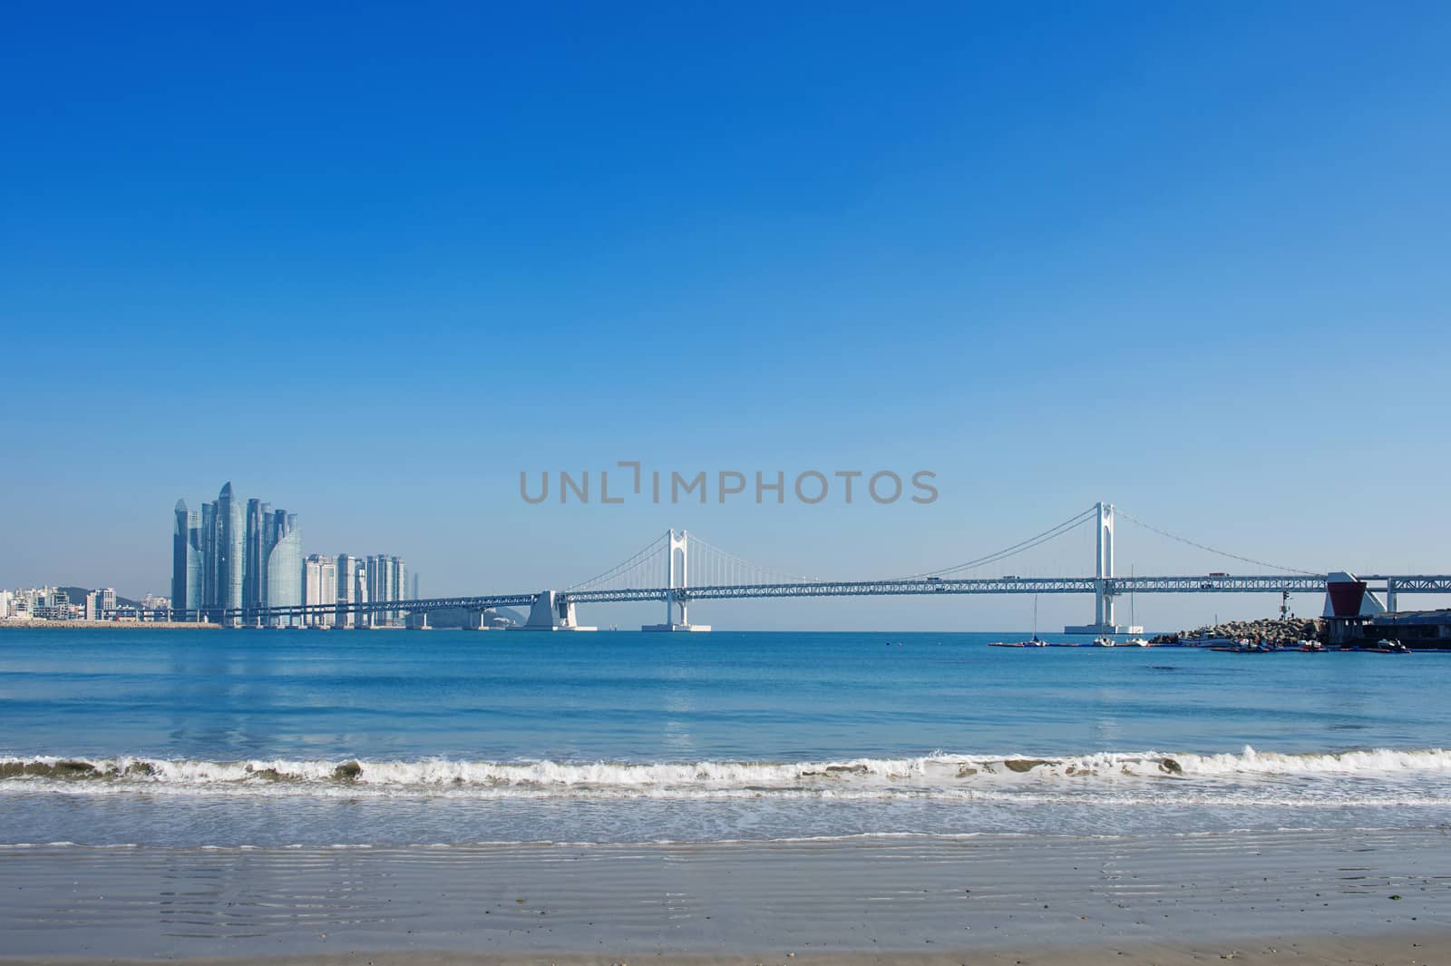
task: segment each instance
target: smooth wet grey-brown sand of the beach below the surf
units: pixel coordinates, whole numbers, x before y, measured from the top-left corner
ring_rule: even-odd
[[[1439,830],[0,849],[0,960],[1447,963]]]

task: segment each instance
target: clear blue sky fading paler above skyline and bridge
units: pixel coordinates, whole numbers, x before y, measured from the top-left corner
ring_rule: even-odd
[[[440,595],[564,586],[672,525],[895,576],[1098,499],[1451,571],[1444,3],[297,6],[0,12],[0,586],[165,593],[173,503],[226,480]],[[940,498],[519,499],[617,460],[927,468]],[[1254,570],[1132,527],[1119,564]]]

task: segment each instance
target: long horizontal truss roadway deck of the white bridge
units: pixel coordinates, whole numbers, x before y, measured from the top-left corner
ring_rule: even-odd
[[[1451,593],[1451,574],[1370,574],[1360,577],[1371,590],[1384,593]],[[968,595],[968,593],[1097,593],[1097,577],[975,577],[933,579],[908,577],[901,580],[823,580],[801,583],[757,583],[723,585],[702,587],[621,587],[614,590],[563,590],[557,595],[562,603],[625,603],[675,600],[692,603],[696,600],[746,600],[756,598],[859,598],[859,596],[910,596],[910,595]],[[1127,593],[1325,593],[1323,574],[1196,574],[1181,577],[1107,577],[1103,589],[1113,596]],[[305,618],[324,614],[383,614],[437,611],[441,608],[463,608],[482,611],[486,608],[527,608],[538,595],[499,593],[460,598],[428,598],[421,600],[374,600],[369,603],[324,603],[290,608],[267,608],[248,612],[248,618]],[[225,616],[234,616],[226,612]],[[184,619],[184,618],[183,618]]]

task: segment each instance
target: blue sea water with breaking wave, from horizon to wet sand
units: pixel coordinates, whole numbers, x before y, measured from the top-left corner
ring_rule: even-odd
[[[0,632],[0,846],[1438,828],[1451,656]]]

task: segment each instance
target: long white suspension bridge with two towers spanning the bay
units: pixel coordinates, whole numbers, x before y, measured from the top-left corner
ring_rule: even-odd
[[[1148,531],[1181,544],[1209,551],[1219,557],[1251,564],[1275,573],[1180,576],[1122,576],[1114,571],[1114,531],[1119,519],[1127,519]],[[1036,547],[1055,541],[1080,528],[1091,527],[1094,537],[1093,573],[1084,576],[974,576],[984,567],[995,567]],[[569,585],[562,590],[522,593],[482,593],[467,596],[428,598],[416,600],[373,600],[300,605],[260,611],[209,612],[206,619],[222,624],[258,624],[264,627],[297,627],[337,621],[367,627],[382,615],[411,615],[427,627],[427,615],[440,609],[463,609],[472,615],[473,627],[483,625],[483,615],[495,608],[527,608],[525,629],[575,631],[593,629],[579,624],[577,608],[596,603],[660,602],[665,621],[643,629],[707,631],[691,624],[689,605],[698,600],[747,600],[765,598],[855,598],[855,596],[913,596],[913,595],[1003,595],[1003,593],[1078,593],[1091,595],[1094,614],[1091,624],[1064,628],[1068,634],[1139,632],[1117,622],[1116,602],[1130,593],[1328,593],[1336,586],[1354,585],[1357,602],[1373,600],[1376,606],[1394,611],[1402,593],[1451,593],[1451,574],[1370,574],[1352,577],[1344,571],[1315,573],[1283,567],[1252,557],[1216,550],[1201,542],[1178,537],[1139,521],[1113,503],[1096,503],[1081,513],[1040,534],[1010,547],[972,560],[884,580],[821,580],[775,570],[737,557],[686,531],[670,529],[647,547],[614,567]],[[1384,595],[1384,603],[1376,595]],[[1358,606],[1358,603],[1357,603]],[[196,612],[173,612],[171,619],[199,619]]]

